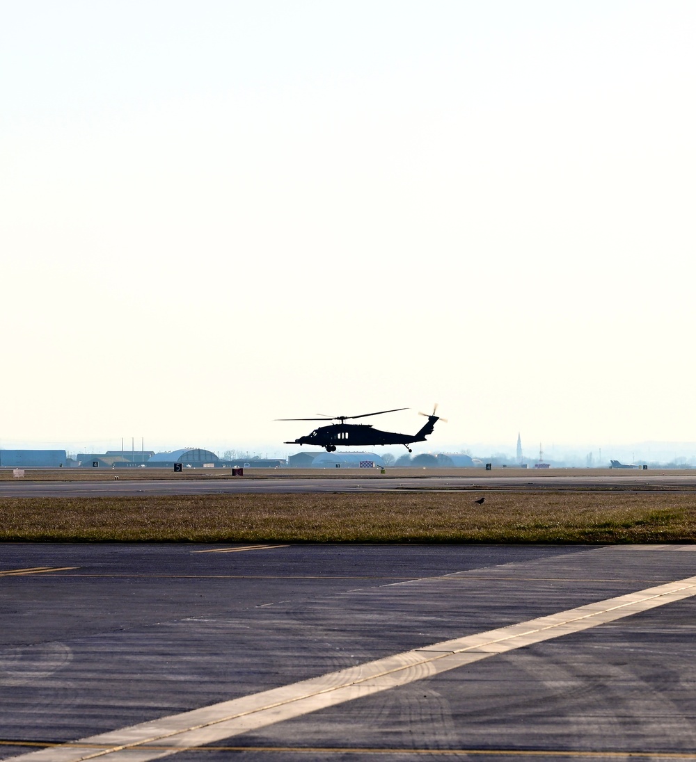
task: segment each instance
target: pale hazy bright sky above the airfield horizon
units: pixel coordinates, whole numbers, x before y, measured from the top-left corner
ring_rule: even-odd
[[[692,0],[0,0],[0,447],[434,402],[433,450],[696,440],[694,39]]]

